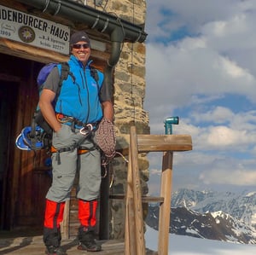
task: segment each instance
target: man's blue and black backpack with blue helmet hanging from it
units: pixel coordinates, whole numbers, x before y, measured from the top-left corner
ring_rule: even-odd
[[[39,96],[43,90],[43,84],[46,78],[48,77],[49,72],[51,72],[52,69],[57,65],[58,63],[49,63],[42,67],[42,69],[38,72],[37,83]],[[55,102],[57,101],[58,96],[60,96],[61,93],[61,85],[63,81],[67,79],[68,75],[70,75],[73,78],[73,81],[75,82],[75,77],[73,73],[70,72],[68,63],[61,62],[61,77],[60,82],[58,84],[58,88],[56,90],[55,101],[53,102],[54,107]],[[100,87],[98,84],[98,72],[95,67],[90,66],[90,75],[92,76],[92,78],[96,80],[98,91],[100,91]],[[35,113],[32,117],[32,125],[25,127],[21,131],[20,136],[17,137],[15,144],[18,148],[22,150],[38,150],[41,148],[45,148],[46,150],[49,151],[52,145],[52,133],[52,128],[44,119],[44,116],[40,108],[37,106]]]

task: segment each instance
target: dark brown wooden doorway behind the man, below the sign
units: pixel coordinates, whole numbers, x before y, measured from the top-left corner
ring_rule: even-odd
[[[1,229],[42,229],[44,197],[50,176],[47,155],[21,151],[15,139],[31,125],[38,102],[37,73],[41,63],[0,55],[0,200]]]

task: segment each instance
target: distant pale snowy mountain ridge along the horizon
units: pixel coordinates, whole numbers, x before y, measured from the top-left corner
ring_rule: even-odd
[[[172,194],[172,207],[178,206],[201,213],[222,211],[256,228],[256,192],[236,194],[182,188]]]

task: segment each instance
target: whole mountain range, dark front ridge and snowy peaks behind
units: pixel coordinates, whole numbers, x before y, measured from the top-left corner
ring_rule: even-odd
[[[148,206],[146,223],[158,230],[159,206]],[[256,244],[256,192],[195,191],[172,194],[169,232],[236,243]]]

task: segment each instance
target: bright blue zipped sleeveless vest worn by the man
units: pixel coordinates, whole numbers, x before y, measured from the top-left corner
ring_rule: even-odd
[[[95,123],[102,119],[102,104],[99,93],[102,88],[103,74],[98,72],[98,84],[90,75],[90,62],[84,67],[73,55],[68,61],[70,72],[61,86],[61,93],[56,101],[55,112],[78,119],[84,124]],[[61,72],[61,65],[58,65]]]

